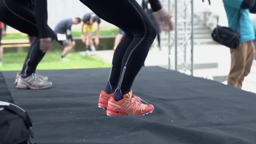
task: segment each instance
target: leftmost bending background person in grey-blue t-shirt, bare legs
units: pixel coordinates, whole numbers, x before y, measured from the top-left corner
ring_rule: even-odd
[[[75,47],[75,40],[72,37],[71,27],[73,24],[80,24],[81,19],[78,17],[68,18],[61,20],[56,27],[54,28],[54,32],[56,33],[56,41],[61,45],[64,45],[64,50],[62,51],[60,60],[61,61],[70,61],[70,59],[65,58],[67,53],[72,51]],[[58,40],[58,34],[65,34],[66,40]]]

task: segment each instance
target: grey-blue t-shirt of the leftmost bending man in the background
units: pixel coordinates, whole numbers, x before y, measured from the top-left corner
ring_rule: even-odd
[[[64,19],[60,21],[54,28],[55,33],[67,34],[67,36],[72,40],[71,27],[73,25],[72,18]]]

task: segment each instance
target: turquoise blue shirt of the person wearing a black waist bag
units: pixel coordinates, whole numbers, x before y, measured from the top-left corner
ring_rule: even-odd
[[[253,23],[250,19],[249,9],[241,9],[243,0],[224,0],[224,8],[229,21],[229,28],[239,33],[240,42],[248,42],[255,39]]]

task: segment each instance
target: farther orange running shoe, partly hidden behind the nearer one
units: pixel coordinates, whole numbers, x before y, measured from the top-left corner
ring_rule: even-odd
[[[133,91],[131,90],[130,93],[132,94]],[[98,107],[101,109],[107,109],[109,98],[113,97],[114,95],[115,93],[107,94],[105,91],[101,91],[101,94],[99,95]],[[141,99],[137,96],[134,96],[133,99],[135,99],[136,101],[141,101]]]

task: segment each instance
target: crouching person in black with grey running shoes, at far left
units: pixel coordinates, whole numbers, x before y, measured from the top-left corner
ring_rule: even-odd
[[[45,89],[52,86],[48,77],[37,75],[37,65],[52,48],[55,33],[47,24],[47,8],[44,0],[0,0],[0,21],[29,35],[32,42],[21,72],[14,84],[19,89]],[[13,58],[15,59],[15,58]]]

